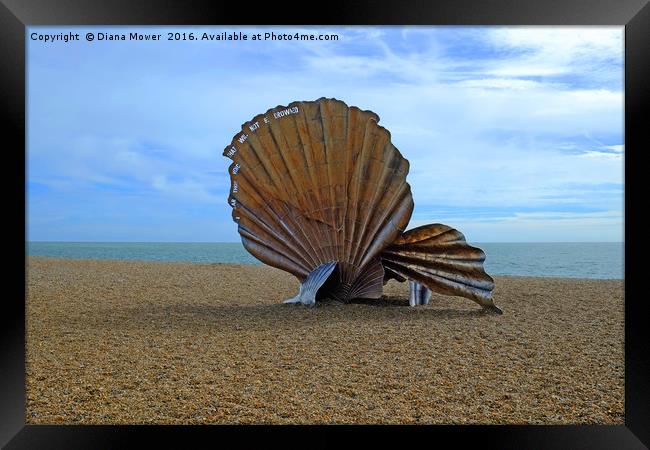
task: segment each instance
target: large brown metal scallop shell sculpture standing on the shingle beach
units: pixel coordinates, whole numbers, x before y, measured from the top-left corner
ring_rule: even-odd
[[[431,291],[500,313],[485,253],[446,225],[405,231],[413,212],[408,161],[379,116],[336,99],[293,102],[242,125],[229,204],[244,247],[295,275],[286,303],[379,298],[391,278],[411,284],[411,304]]]

